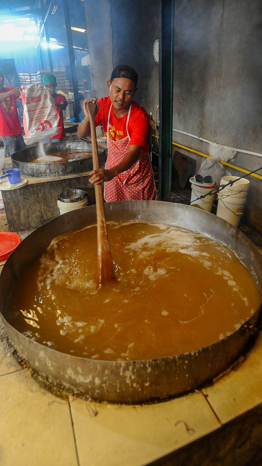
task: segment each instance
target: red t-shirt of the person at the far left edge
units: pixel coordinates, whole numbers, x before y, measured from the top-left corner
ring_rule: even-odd
[[[13,90],[14,88],[4,88],[0,94]],[[21,123],[18,117],[18,111],[15,99],[19,98],[12,94],[0,102],[0,136],[16,136],[22,134]]]

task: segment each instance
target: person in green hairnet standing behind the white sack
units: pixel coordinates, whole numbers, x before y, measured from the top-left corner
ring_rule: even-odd
[[[44,143],[50,142],[50,141],[52,143],[56,143],[56,142],[61,141],[63,137],[66,137],[65,128],[64,128],[63,110],[67,108],[68,103],[67,103],[65,96],[62,96],[62,94],[55,93],[56,78],[54,75],[52,75],[51,73],[47,73],[46,75],[43,75],[43,83],[50,93],[51,102],[55,104],[55,106],[57,107],[57,111],[59,115],[58,126],[60,127],[59,133],[56,134],[54,137],[52,137],[52,139],[44,139]]]

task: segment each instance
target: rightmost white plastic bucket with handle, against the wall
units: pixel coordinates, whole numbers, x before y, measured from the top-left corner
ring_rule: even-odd
[[[239,177],[224,176],[221,178],[221,185],[226,185],[229,181],[234,181]],[[241,178],[235,181],[234,185],[227,186],[218,193],[217,216],[227,220],[234,226],[238,226],[243,207],[248,195],[249,181]]]

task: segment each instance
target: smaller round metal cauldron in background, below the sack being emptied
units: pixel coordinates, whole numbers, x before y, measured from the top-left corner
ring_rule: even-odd
[[[92,151],[92,145],[84,141],[64,141],[59,143],[44,144],[47,155],[52,155],[56,151]],[[105,149],[98,147],[99,163],[106,161]],[[83,173],[93,168],[92,157],[74,160],[72,162],[53,162],[51,164],[34,164],[32,160],[37,157],[38,145],[27,147],[22,151],[15,152],[11,159],[14,168],[20,168],[21,173],[30,176],[59,177],[72,173]]]

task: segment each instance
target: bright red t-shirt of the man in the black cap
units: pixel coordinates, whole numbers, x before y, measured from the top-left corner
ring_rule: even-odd
[[[95,117],[96,126],[102,123],[104,133],[107,136],[107,120],[111,106],[110,97],[102,97],[102,99],[99,99],[97,103],[99,103],[99,110]],[[113,141],[120,141],[120,139],[124,139],[124,137],[127,136],[127,116],[128,113],[124,117],[117,118],[115,117],[113,107],[111,108],[109,119],[109,137]],[[146,111],[143,109],[143,107],[140,107],[138,103],[132,100],[130,117],[127,124],[128,133],[131,138],[129,145],[140,145],[142,147],[142,154],[145,154],[148,151],[146,144],[148,124],[149,118],[146,114]]]

